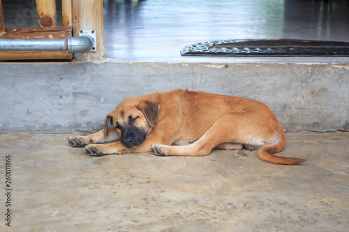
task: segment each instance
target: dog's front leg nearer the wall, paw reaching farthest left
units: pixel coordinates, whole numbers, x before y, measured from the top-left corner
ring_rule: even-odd
[[[105,135],[105,130],[100,130],[94,134],[84,136],[68,137],[67,141],[70,146],[84,147],[88,144],[104,144],[110,141],[118,141],[120,136],[116,130],[108,130]]]

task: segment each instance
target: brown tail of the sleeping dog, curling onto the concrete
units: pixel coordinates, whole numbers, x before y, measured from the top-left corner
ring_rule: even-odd
[[[279,153],[285,148],[286,137],[285,132],[280,132],[276,137],[276,143],[270,144],[266,146],[262,146],[258,152],[257,156],[260,160],[267,161],[272,164],[284,164],[284,165],[292,165],[292,164],[300,164],[306,160],[299,158],[289,158],[289,157],[279,157],[276,155],[272,155],[274,153]]]

